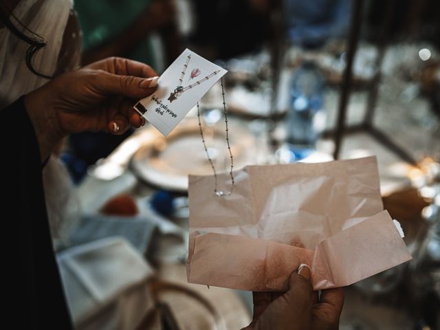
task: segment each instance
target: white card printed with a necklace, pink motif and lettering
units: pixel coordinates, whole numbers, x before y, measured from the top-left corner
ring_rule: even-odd
[[[226,72],[186,49],[159,77],[154,93],[134,108],[160,133],[168,135]]]

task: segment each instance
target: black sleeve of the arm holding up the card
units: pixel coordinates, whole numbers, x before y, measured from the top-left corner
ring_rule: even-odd
[[[24,98],[0,113],[2,324],[8,329],[72,329],[52,248],[39,145]]]

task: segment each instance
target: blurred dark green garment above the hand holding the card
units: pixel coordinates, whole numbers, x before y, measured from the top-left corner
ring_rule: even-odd
[[[92,50],[118,37],[151,2],[151,0],[75,0],[74,8],[78,12],[83,31],[83,50]],[[146,36],[128,57],[154,67],[153,54],[151,41]]]

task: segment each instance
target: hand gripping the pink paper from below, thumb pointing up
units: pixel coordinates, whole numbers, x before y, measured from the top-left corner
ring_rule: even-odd
[[[301,267],[302,266],[302,267]],[[344,304],[342,288],[323,290],[318,298],[310,269],[301,265],[290,276],[289,291],[254,292],[254,318],[245,329],[333,330],[339,328]]]

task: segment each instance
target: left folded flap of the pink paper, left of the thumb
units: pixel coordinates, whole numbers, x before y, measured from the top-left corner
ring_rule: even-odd
[[[245,236],[208,233],[195,237],[188,281],[249,291],[283,291],[314,251]]]

